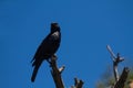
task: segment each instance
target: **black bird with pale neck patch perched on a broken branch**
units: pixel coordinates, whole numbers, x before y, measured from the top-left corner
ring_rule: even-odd
[[[50,34],[42,41],[40,46],[38,47],[35,55],[33,57],[32,66],[34,67],[31,81],[33,82],[43,61],[48,61],[58,51],[61,42],[61,32],[58,23],[51,23],[51,32]]]

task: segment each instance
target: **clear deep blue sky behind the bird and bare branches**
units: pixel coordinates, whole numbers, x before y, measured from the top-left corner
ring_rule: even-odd
[[[84,88],[94,88],[112,65],[106,44],[125,62],[133,59],[132,4],[132,0],[0,0],[0,87],[54,88],[47,62],[35,82],[30,81],[30,61],[50,23],[58,22],[62,42],[57,55],[59,66],[65,65],[66,88],[74,77],[84,80]]]

